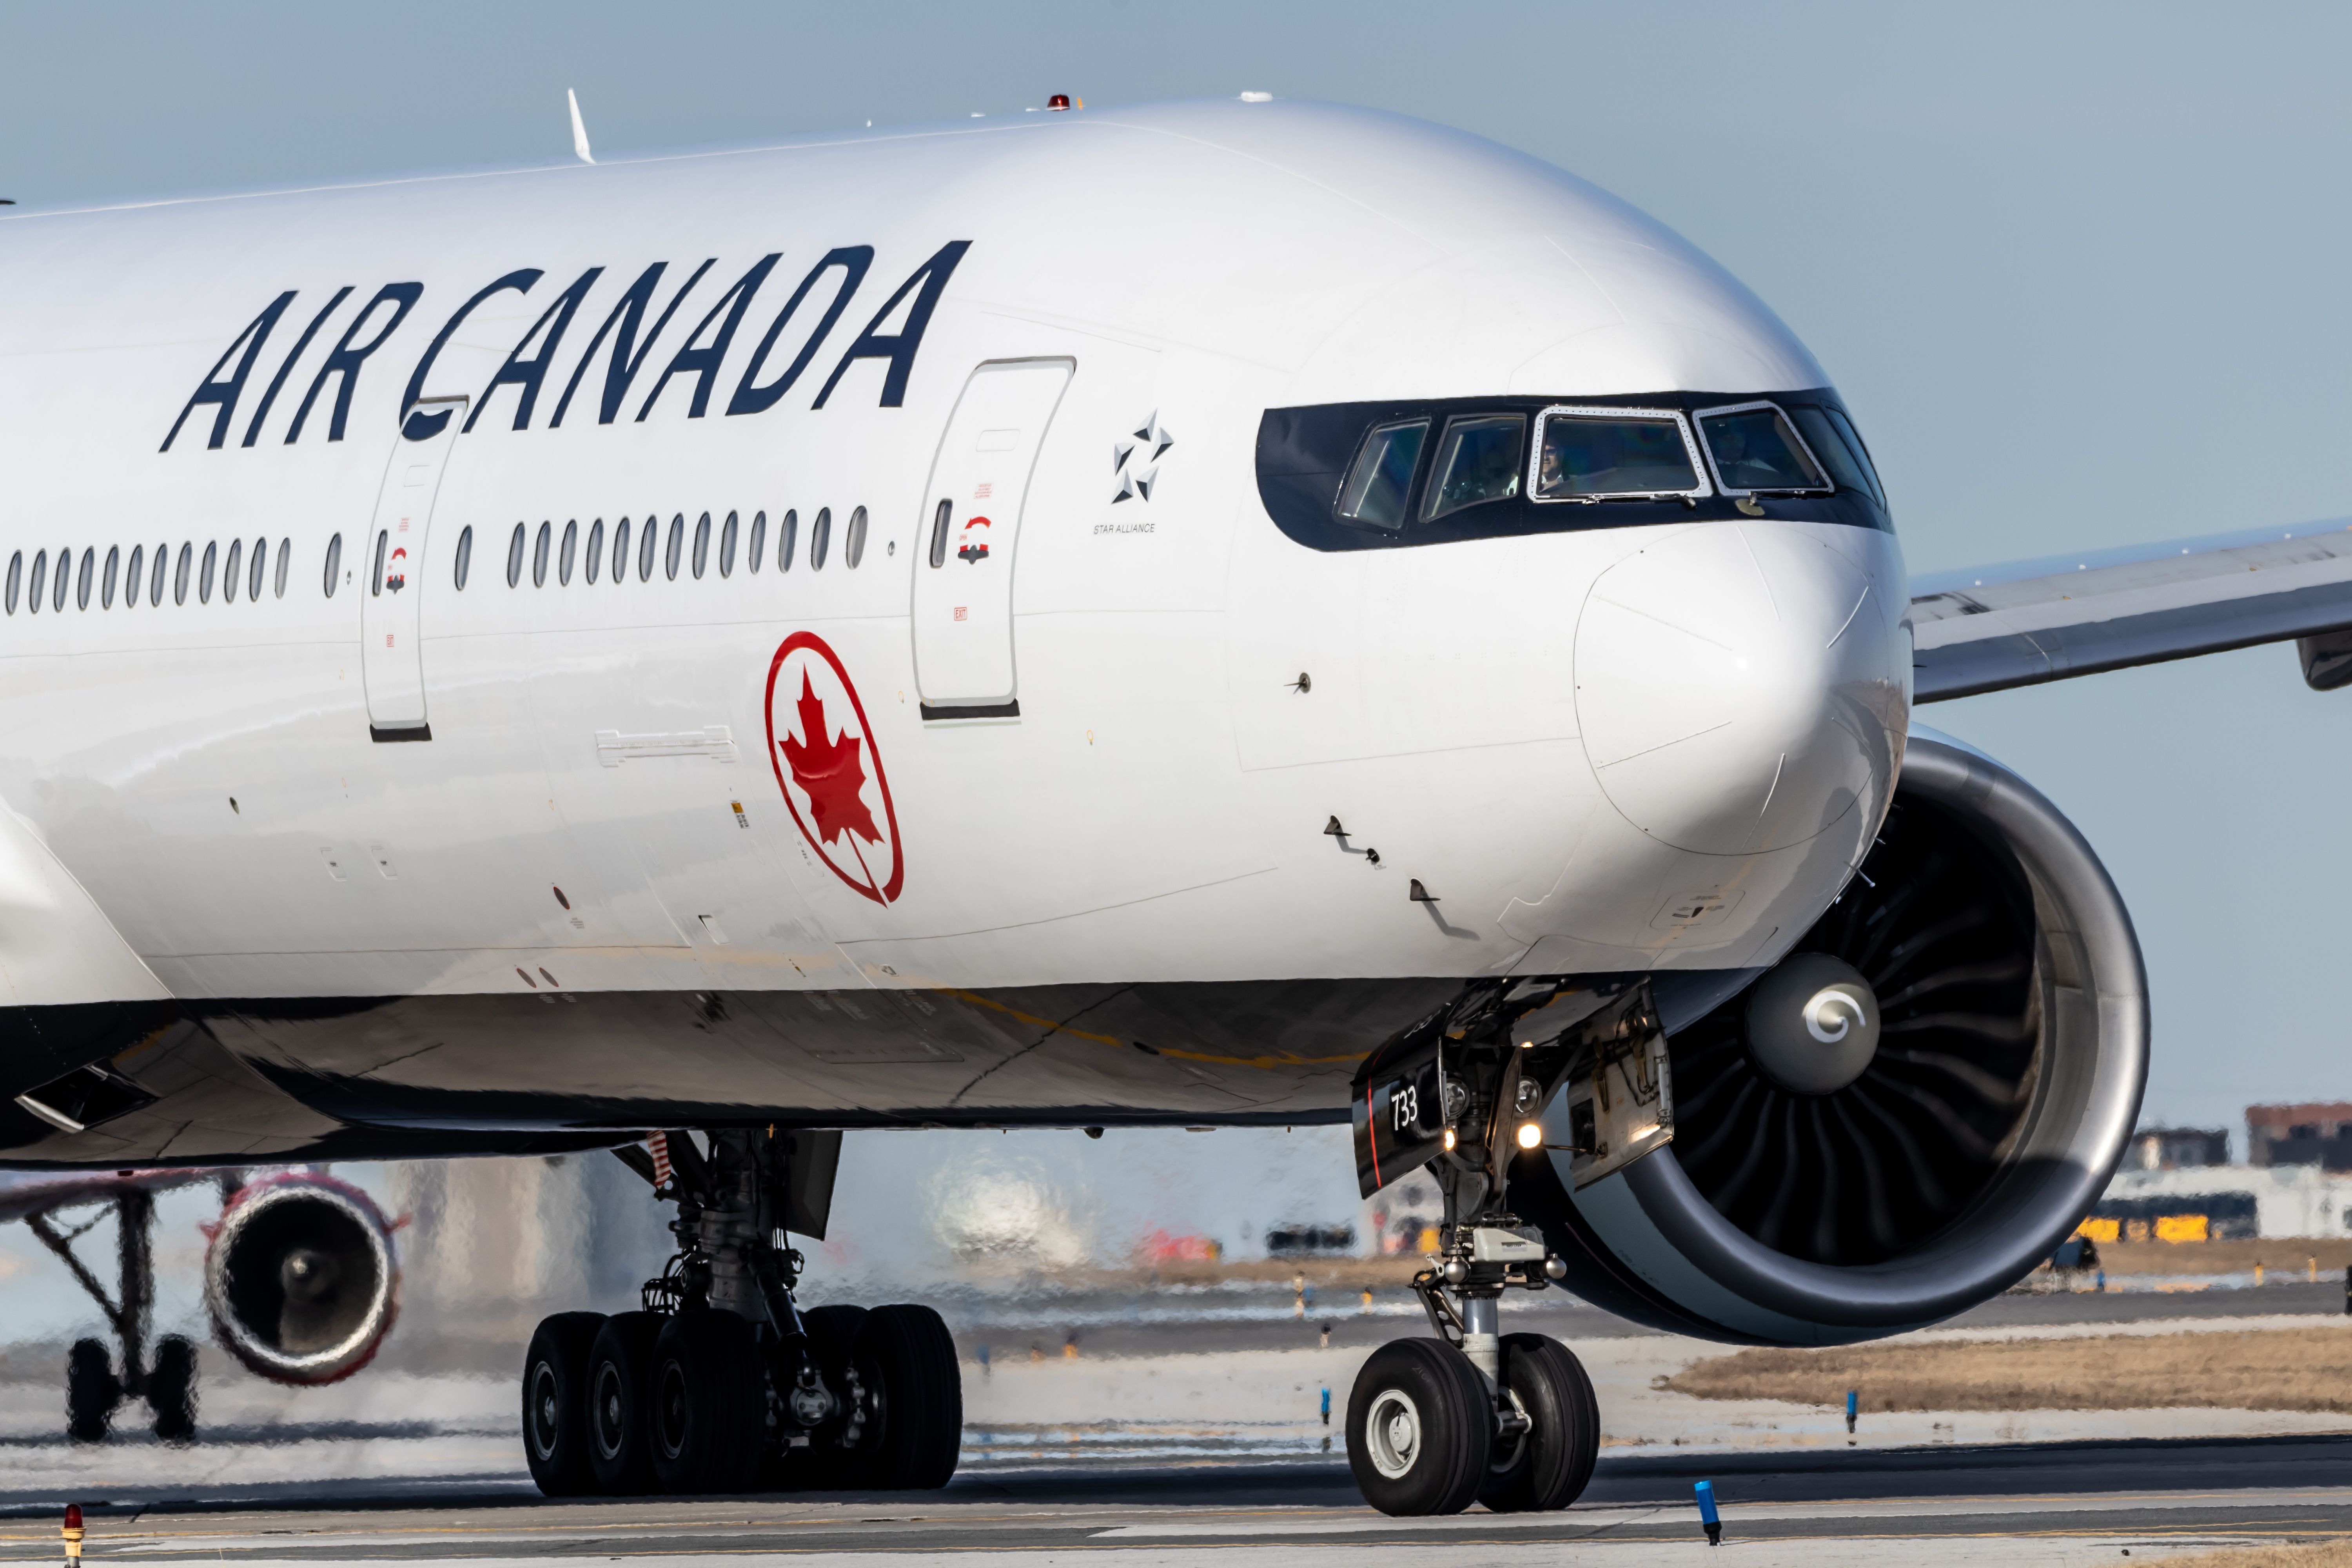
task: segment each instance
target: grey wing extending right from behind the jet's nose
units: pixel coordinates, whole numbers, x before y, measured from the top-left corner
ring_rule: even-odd
[[[1912,701],[2300,642],[2352,684],[2352,520],[1912,578]]]

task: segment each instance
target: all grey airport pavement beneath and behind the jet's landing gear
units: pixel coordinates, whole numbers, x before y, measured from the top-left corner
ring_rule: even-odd
[[[482,1347],[440,1366],[412,1352],[303,1392],[219,1373],[223,1359],[207,1352],[200,1441],[176,1448],[141,1432],[68,1443],[56,1368],[9,1354],[0,1366],[0,1561],[54,1559],[56,1519],[75,1500],[89,1512],[92,1561],[863,1563],[924,1554],[1037,1563],[1040,1554],[1122,1552],[1136,1563],[1202,1563],[1279,1552],[1296,1563],[1364,1547],[1449,1547],[1482,1563],[1632,1563],[1635,1554],[1708,1549],[1691,1502],[1700,1479],[1722,1500],[1726,1547],[1743,1561],[1804,1568],[1877,1566],[1889,1554],[1907,1563],[2114,1563],[2126,1552],[2352,1535],[2347,1418],[1919,1413],[1865,1415],[1849,1439],[1842,1410],[1658,1389],[1656,1380],[1724,1347],[1635,1331],[1550,1293],[1515,1309],[1510,1326],[1569,1340],[1592,1373],[1606,1429],[1592,1488],[1559,1514],[1390,1521],[1362,1505],[1345,1443],[1322,1420],[1322,1392],[1343,1410],[1369,1347],[1425,1333],[1418,1314],[1298,1316],[1287,1293],[1263,1291],[1197,1305],[1218,1312],[1155,1305],[1143,1316],[1103,1300],[955,1314],[962,1469],[941,1493],[894,1495],[541,1500],[522,1469],[510,1373],[494,1371],[503,1356]],[[1922,1338],[2319,1324],[2352,1333],[2340,1284],[2006,1295]]]

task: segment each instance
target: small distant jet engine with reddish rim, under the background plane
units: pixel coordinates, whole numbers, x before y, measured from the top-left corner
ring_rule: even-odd
[[[400,1309],[393,1227],[332,1175],[242,1187],[205,1253],[205,1305],[221,1345],[273,1382],[336,1382],[367,1366]]]

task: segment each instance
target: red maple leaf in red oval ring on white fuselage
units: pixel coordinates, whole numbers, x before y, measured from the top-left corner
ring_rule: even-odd
[[[896,900],[906,863],[889,776],[849,670],[816,632],[786,637],[767,668],[767,759],[826,867],[875,903]]]

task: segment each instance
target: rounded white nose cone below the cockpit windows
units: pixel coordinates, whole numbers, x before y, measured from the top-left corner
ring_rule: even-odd
[[[1719,856],[1877,820],[1907,726],[1884,538],[1710,522],[1599,576],[1576,628],[1576,715],[1625,820]]]

